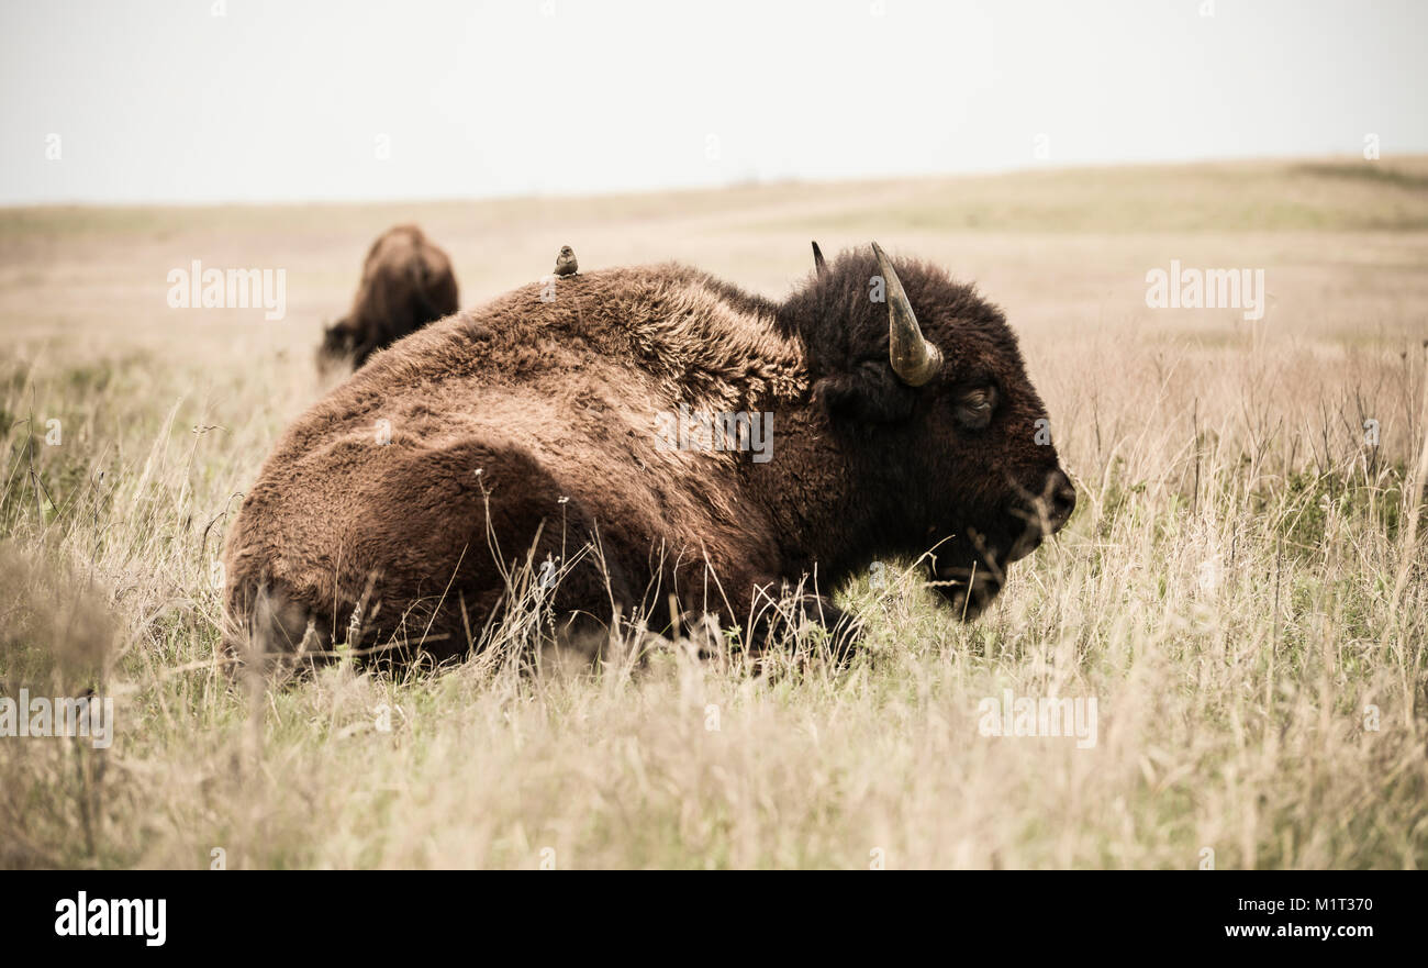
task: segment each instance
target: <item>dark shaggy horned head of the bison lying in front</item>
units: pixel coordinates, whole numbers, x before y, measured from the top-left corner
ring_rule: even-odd
[[[1045,407],[1002,313],[970,286],[875,243],[797,300],[814,395],[854,478],[850,518],[874,554],[931,553],[934,587],[964,618],[1005,568],[1075,508]]]

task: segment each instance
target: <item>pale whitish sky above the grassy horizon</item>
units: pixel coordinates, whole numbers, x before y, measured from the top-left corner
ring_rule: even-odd
[[[1428,3],[0,7],[3,204],[1359,154],[1369,133],[1385,158],[1428,151]]]

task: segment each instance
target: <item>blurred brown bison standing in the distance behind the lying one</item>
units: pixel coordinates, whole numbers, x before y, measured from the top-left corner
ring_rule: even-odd
[[[353,307],[323,331],[318,367],[360,367],[377,350],[456,310],[447,254],[416,226],[388,228],[367,251]]]

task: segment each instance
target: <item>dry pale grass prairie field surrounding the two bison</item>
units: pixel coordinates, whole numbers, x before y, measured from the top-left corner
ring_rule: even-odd
[[[813,632],[591,665],[513,621],[446,668],[234,675],[227,523],[403,221],[463,307],[565,243],[771,297],[811,238],[935,261],[1020,334],[1075,515],[975,622],[911,560],[837,590],[845,667]],[[171,308],[194,260],[284,270],[284,318]],[[1172,261],[1262,270],[1262,318],[1150,307]],[[114,701],[106,748],[0,737],[3,867],[1428,865],[1428,157],[4,208],[0,327],[4,694]],[[988,735],[1004,697],[1094,734]]]

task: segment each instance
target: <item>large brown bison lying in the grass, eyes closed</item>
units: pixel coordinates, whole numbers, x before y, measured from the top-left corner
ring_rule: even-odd
[[[547,280],[378,356],[247,494],[230,634],[458,655],[521,563],[561,621],[708,611],[758,638],[791,585],[838,632],[824,593],[928,551],[975,617],[1075,504],[1017,338],[927,263],[817,260],[783,303],[674,264]]]

